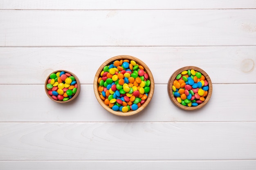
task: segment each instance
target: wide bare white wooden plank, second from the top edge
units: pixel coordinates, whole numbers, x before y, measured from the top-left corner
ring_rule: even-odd
[[[255,14],[256,9],[1,10],[0,46],[256,45]]]

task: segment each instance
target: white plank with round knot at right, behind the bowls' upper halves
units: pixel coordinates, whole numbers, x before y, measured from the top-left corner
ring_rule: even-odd
[[[256,46],[2,47],[0,84],[44,84],[47,76],[58,69],[73,72],[82,84],[92,84],[101,64],[116,55],[132,55],[142,60],[157,84],[167,84],[171,75],[184,66],[202,68],[213,84],[256,83],[252,78],[256,77],[255,53]]]

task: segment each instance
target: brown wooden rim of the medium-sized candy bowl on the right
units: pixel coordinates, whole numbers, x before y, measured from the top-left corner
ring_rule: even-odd
[[[179,102],[177,102],[177,100],[175,99],[175,97],[173,96],[173,81],[175,80],[176,76],[178,74],[180,74],[182,71],[186,71],[186,70],[195,70],[195,71],[198,71],[200,72],[202,75],[204,75],[205,79],[207,80],[208,82],[208,86],[209,86],[209,90],[208,90],[208,94],[204,100],[204,102],[202,102],[201,104],[198,104],[198,106],[191,106],[191,107],[188,107],[188,106],[183,106],[182,104],[180,104]],[[195,67],[195,66],[186,66],[186,67],[182,67],[180,69],[178,69],[177,71],[175,71],[173,73],[173,75],[171,75],[169,81],[168,81],[168,86],[167,86],[167,90],[168,90],[168,95],[171,99],[171,101],[173,102],[173,104],[175,104],[175,106],[177,106],[178,108],[181,108],[183,110],[197,110],[199,108],[202,108],[205,104],[207,104],[207,102],[209,102],[209,99],[211,98],[211,94],[212,94],[212,83],[211,83],[211,79],[209,77],[209,75],[203,71],[201,68],[198,68],[198,67]]]

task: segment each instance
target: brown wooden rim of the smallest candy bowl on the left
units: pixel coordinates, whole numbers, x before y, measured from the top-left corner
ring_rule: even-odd
[[[50,78],[50,75],[51,75],[52,73],[57,73],[57,72],[61,72],[61,71],[64,71],[65,73],[70,73],[70,74],[76,79],[77,91],[76,91],[75,95],[74,95],[71,99],[69,99],[69,100],[67,100],[67,101],[54,100],[54,99],[52,98],[52,96],[48,94],[48,91],[49,91],[49,90],[46,88],[46,85],[48,84],[48,79]],[[67,102],[71,102],[72,100],[74,100],[74,99],[79,95],[79,92],[80,92],[80,89],[81,89],[81,88],[80,88],[79,79],[76,77],[76,75],[75,75],[74,73],[70,72],[70,71],[65,71],[65,70],[57,70],[57,71],[54,71],[54,72],[52,72],[52,73],[51,73],[51,74],[47,77],[47,79],[45,80],[45,92],[46,92],[47,96],[48,96],[50,99],[52,99],[54,102],[57,102],[57,103],[67,103]]]

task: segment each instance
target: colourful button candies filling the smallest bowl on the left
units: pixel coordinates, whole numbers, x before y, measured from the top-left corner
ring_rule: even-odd
[[[64,71],[52,73],[46,85],[48,94],[52,99],[67,101],[71,99],[77,91],[77,83],[74,76]]]

